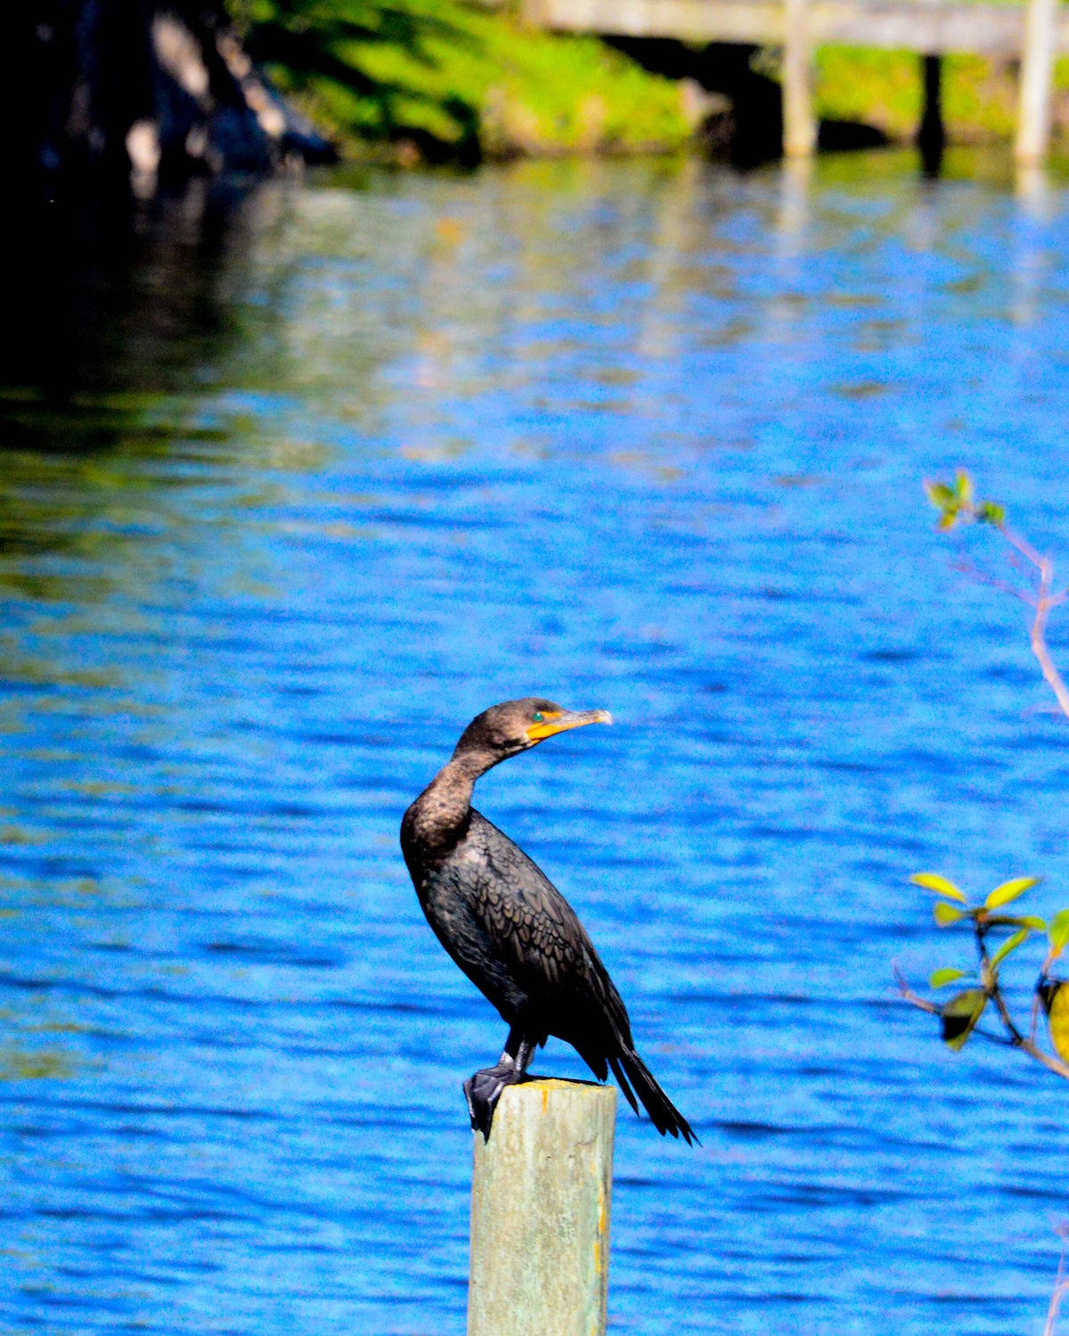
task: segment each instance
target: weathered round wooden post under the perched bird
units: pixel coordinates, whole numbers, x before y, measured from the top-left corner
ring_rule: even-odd
[[[614,1086],[507,1086],[475,1136],[468,1336],[605,1336]]]

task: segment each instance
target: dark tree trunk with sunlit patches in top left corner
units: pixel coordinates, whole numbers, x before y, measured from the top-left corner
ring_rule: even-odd
[[[29,0],[5,16],[0,110],[16,191],[152,194],[332,148],[255,69],[219,0]]]

